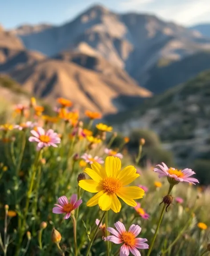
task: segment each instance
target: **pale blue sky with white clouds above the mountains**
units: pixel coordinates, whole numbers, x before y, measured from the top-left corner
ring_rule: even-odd
[[[60,25],[93,4],[117,13],[155,14],[185,26],[210,23],[210,0],[0,0],[0,24],[5,29],[25,23]]]

